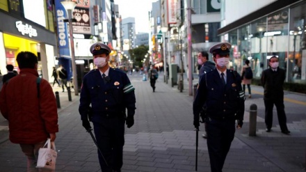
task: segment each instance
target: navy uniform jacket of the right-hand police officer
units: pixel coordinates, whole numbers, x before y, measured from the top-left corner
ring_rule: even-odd
[[[206,104],[207,116],[216,120],[243,120],[244,93],[241,77],[233,70],[227,70],[224,87],[217,69],[202,75],[193,102],[193,114],[199,116]]]

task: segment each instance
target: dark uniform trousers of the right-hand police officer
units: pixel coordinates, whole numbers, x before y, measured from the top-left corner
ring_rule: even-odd
[[[234,139],[235,121],[207,118],[206,127],[211,172],[222,172],[225,158]]]

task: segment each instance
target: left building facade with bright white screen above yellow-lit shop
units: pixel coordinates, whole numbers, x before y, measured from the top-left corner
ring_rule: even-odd
[[[0,70],[14,65],[19,72],[16,56],[29,51],[38,56],[40,77],[51,81],[55,65],[57,41],[54,29],[53,6],[48,1],[0,1]]]

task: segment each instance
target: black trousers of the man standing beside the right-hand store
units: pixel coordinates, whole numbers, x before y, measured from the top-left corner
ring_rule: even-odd
[[[277,111],[278,123],[280,123],[280,130],[285,132],[288,130],[287,127],[287,117],[284,112],[284,100],[264,100],[264,106],[266,107],[266,114],[264,116],[264,121],[266,123],[267,129],[271,129],[273,122],[273,105],[275,104]]]

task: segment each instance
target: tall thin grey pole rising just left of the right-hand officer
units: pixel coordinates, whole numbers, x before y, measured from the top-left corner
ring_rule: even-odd
[[[188,91],[189,95],[193,95],[193,73],[191,58],[191,0],[187,0],[187,40],[188,40]]]

